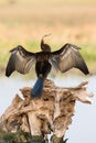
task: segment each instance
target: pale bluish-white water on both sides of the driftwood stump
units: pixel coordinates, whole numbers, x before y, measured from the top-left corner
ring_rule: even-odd
[[[62,87],[77,86],[81,81],[88,80],[87,91],[93,92],[93,105],[76,102],[73,124],[66,132],[67,143],[96,143],[96,76],[84,77],[65,77],[54,79],[55,85]],[[21,78],[0,78],[0,116],[11,105],[15,94],[20,94],[22,87],[32,87],[33,80]]]

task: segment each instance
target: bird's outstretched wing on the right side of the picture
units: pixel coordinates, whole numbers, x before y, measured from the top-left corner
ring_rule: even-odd
[[[75,67],[87,75],[89,73],[87,65],[78,50],[79,47],[75,45],[65,44],[61,50],[52,52],[50,61],[62,73]]]

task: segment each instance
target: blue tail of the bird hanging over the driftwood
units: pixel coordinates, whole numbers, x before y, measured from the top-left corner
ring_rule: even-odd
[[[31,90],[32,98],[41,97],[43,90],[43,82],[44,82],[43,77],[39,77],[33,89]]]

